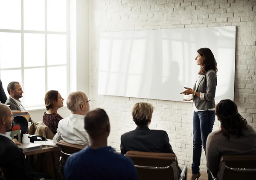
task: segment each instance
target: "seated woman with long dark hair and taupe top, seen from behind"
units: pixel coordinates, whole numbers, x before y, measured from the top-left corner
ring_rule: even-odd
[[[216,177],[223,155],[256,155],[256,132],[238,113],[230,99],[222,100],[215,108],[221,128],[211,132],[206,142],[207,167]]]

